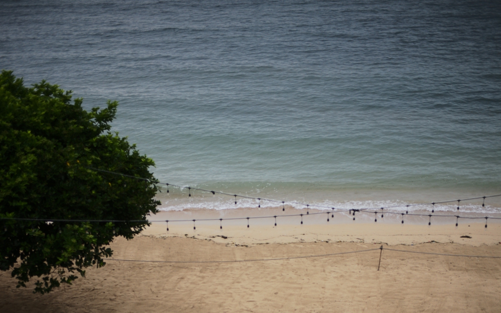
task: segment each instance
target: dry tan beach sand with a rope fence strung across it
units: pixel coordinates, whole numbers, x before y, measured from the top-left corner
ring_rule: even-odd
[[[501,256],[501,224],[154,224],[115,259],[220,261],[385,248]],[[469,235],[472,238],[461,238]],[[227,238],[223,238],[225,236]],[[230,263],[108,261],[46,295],[0,274],[0,312],[499,312],[501,259],[380,250]]]

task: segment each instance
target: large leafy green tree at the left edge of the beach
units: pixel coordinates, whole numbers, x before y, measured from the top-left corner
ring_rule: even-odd
[[[104,266],[106,246],[132,239],[160,204],[154,162],[110,132],[118,103],[87,112],[71,98],[45,81],[27,88],[12,71],[0,75],[0,269],[17,287],[41,277],[34,292]]]

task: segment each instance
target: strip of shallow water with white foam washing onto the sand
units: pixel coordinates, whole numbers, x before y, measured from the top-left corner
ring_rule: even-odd
[[[498,188],[487,188],[472,191],[471,188],[429,188],[429,189],[346,189],[326,188],[322,183],[299,184],[289,187],[276,185],[276,183],[225,183],[195,185],[188,192],[187,186],[180,188],[161,186],[155,198],[161,201],[160,210],[196,210],[196,209],[245,209],[245,208],[282,208],[302,209],[309,204],[311,208],[381,208],[392,207],[396,211],[405,211],[406,205],[411,210],[455,210],[457,199],[463,211],[471,212],[501,212],[501,193]],[[196,190],[216,190],[225,194]],[[191,194],[191,196],[189,196]],[[233,198],[236,194],[237,197]],[[485,199],[482,197],[485,196]],[[259,200],[258,198],[261,198]],[[270,199],[267,200],[267,199]],[[235,203],[236,200],[236,203]],[[446,201],[446,202],[442,202]],[[435,202],[433,207],[431,202]],[[484,204],[484,205],[482,205]]]

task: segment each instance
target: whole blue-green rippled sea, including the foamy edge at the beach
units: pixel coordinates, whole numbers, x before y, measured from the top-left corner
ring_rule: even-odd
[[[501,193],[499,1],[2,1],[0,27],[2,69],[118,100],[161,181],[350,207]],[[235,207],[169,191],[160,208]]]

